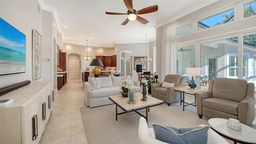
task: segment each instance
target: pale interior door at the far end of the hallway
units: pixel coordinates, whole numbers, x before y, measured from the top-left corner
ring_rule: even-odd
[[[79,78],[79,60],[69,60],[69,78],[78,79]]]

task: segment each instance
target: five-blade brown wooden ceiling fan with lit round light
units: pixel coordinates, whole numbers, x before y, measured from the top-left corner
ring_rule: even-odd
[[[146,20],[145,18],[138,16],[138,14],[148,14],[150,12],[156,12],[158,10],[158,5],[154,5],[154,6],[149,6],[147,8],[143,8],[141,10],[136,11],[133,9],[132,0],[124,0],[124,4],[128,8],[127,13],[106,12],[106,14],[113,14],[113,15],[128,14],[128,18],[126,18],[126,20],[124,20],[124,22],[122,22],[121,25],[126,25],[129,22],[129,20],[138,20],[140,23],[146,24],[149,21]]]

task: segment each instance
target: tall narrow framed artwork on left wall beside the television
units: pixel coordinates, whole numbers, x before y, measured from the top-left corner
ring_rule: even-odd
[[[32,80],[41,78],[42,36],[32,30]]]

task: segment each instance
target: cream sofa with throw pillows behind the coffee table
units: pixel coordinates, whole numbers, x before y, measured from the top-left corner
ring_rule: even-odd
[[[130,78],[130,76],[128,77]],[[100,84],[100,89],[96,90],[91,90],[90,85],[91,80],[94,78],[88,78],[88,82],[84,82],[84,101],[86,106],[93,108],[96,106],[113,104],[113,102],[108,99],[108,96],[120,94],[119,86],[125,78],[126,76],[107,76],[103,78],[96,78]],[[133,83],[136,92],[140,92],[140,82],[138,80],[133,80]]]

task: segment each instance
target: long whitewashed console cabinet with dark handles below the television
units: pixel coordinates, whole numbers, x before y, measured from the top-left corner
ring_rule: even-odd
[[[38,144],[54,106],[53,82],[30,84],[0,96],[0,144]]]

